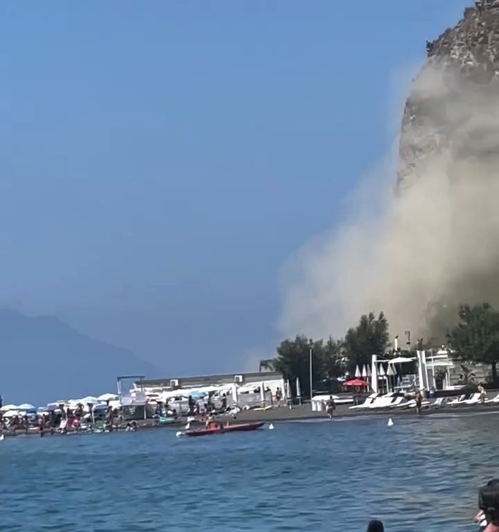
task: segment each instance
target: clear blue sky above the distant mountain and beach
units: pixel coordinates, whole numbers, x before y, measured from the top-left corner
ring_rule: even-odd
[[[3,2],[0,304],[170,376],[249,369],[469,3]]]

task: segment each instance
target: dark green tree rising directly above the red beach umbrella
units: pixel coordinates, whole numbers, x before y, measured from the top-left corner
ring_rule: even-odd
[[[349,371],[356,366],[371,364],[371,355],[383,355],[388,343],[388,321],[383,312],[378,318],[373,312],[360,317],[358,326],[349,328],[344,338],[344,354]]]

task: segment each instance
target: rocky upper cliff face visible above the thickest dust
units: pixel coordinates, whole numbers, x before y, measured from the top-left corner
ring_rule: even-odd
[[[427,42],[426,50],[428,61],[403,114],[398,193],[426,172],[428,157],[462,159],[499,146],[496,133],[478,146],[499,129],[492,116],[483,120],[499,98],[499,0],[476,0],[453,28]],[[477,127],[476,114],[487,124]]]

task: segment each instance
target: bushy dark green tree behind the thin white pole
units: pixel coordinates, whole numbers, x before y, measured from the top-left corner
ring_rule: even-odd
[[[296,378],[299,378],[301,394],[310,397],[310,347],[313,353],[313,382],[324,380],[324,342],[314,342],[306,336],[286,339],[277,347],[277,357],[274,360],[276,371],[283,373],[289,379],[293,389]],[[296,392],[296,390],[295,390]]]

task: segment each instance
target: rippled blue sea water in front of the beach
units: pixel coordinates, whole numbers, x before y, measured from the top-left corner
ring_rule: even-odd
[[[477,531],[499,477],[499,416],[276,423],[206,438],[175,430],[6,438],[0,530]]]

